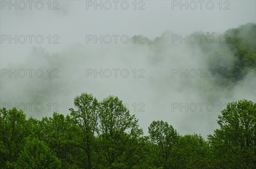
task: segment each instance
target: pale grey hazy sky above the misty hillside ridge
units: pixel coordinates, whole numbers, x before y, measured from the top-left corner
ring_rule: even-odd
[[[105,1],[97,1],[99,4],[102,2],[102,10],[100,6],[96,6],[97,10],[94,10],[94,1],[86,0],[62,0],[51,4],[51,8],[58,5],[56,8],[59,10],[49,10],[48,1],[42,1],[44,7],[41,10],[35,8],[37,1],[31,4],[31,10],[29,10],[29,3],[26,3],[24,10],[20,10],[17,3],[17,10],[15,10],[15,6],[10,6],[9,1],[7,5],[3,5],[4,2],[1,0],[1,35],[43,35],[45,40],[41,45],[37,44],[35,39],[32,44],[29,44],[29,38],[25,44],[1,44],[1,66],[10,61],[20,62],[32,46],[40,45],[49,52],[61,51],[76,42],[84,43],[87,34],[126,34],[128,36],[143,34],[145,37],[154,39],[166,30],[177,34],[191,34],[194,31],[223,32],[228,28],[256,20],[256,1],[254,0],[230,0],[222,3],[182,1],[183,4],[187,3],[188,10],[186,6],[180,5],[180,1],[171,0],[148,0],[142,1],[143,3],[137,1],[136,8],[142,6],[144,10],[134,10],[135,3],[132,4],[134,1],[127,1],[129,4],[127,10],[121,8],[122,1],[116,2],[116,10],[115,3],[112,1],[109,1],[112,5],[109,10],[105,9],[108,8],[108,3]],[[90,2],[93,6],[89,6]],[[176,2],[179,4],[176,5]],[[212,8],[211,2],[214,7],[209,10],[207,8]],[[220,4],[221,10],[219,10]],[[125,5],[126,3],[122,3],[123,8]],[[37,6],[40,8],[41,3],[37,3]],[[12,10],[9,10],[9,7]],[[22,3],[20,8],[23,8]],[[230,9],[224,10],[224,8]],[[47,36],[54,34],[60,37],[58,40],[60,43],[47,44]]]

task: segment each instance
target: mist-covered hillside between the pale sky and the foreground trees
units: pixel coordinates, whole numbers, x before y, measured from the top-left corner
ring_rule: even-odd
[[[23,64],[3,67],[7,72],[2,70],[1,103],[4,107],[20,104],[27,117],[41,118],[53,111],[70,113],[73,98],[82,92],[93,93],[99,99],[113,95],[127,103],[143,128],[156,118],[168,119],[182,133],[200,131],[206,136],[216,128],[225,104],[239,99],[255,102],[255,23],[222,34],[198,31],[187,36],[192,36],[191,41],[197,37],[197,41],[186,43],[166,31],[153,40],[137,36],[137,41],[143,39],[144,44],[134,44],[133,37],[128,44],[75,44],[56,53],[34,47]],[[214,37],[212,43],[212,37],[206,41],[207,36]],[[35,74],[38,68],[44,73],[41,78],[41,71],[39,77]],[[26,76],[22,78],[24,73],[20,72],[15,78],[9,69],[25,69]],[[27,69],[33,69],[31,78]],[[100,69],[102,73],[96,74]],[[106,69],[111,75],[103,72]],[[116,75],[113,69],[119,69]],[[127,77],[126,71],[122,76],[123,69],[128,70]],[[37,103],[41,104],[36,107]],[[135,112],[134,103],[144,111]],[[147,121],[143,120],[145,116]]]

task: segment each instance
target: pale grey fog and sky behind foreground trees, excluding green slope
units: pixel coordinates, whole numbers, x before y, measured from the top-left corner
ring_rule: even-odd
[[[216,79],[225,77],[207,65],[212,55],[191,39],[180,42],[180,35],[189,37],[198,31],[215,32],[219,41],[216,37],[227,29],[255,23],[255,1],[221,1],[221,10],[218,1],[211,1],[212,10],[205,4],[200,9],[198,1],[195,10],[190,9],[193,4],[180,10],[180,1],[166,0],[136,1],[136,10],[134,1],[127,1],[127,10],[118,5],[122,1],[116,10],[114,3],[106,10],[105,1],[97,1],[102,2],[102,10],[94,9],[96,1],[52,1],[50,10],[48,1],[42,1],[41,10],[34,4],[31,10],[29,4],[21,10],[18,3],[17,10],[9,9],[9,1],[4,2],[0,10],[1,107],[26,107],[27,117],[40,119],[53,111],[70,113],[74,97],[82,92],[92,93],[99,101],[113,95],[135,114],[145,135],[153,120],[163,120],[182,135],[195,132],[206,137],[218,128],[216,120],[227,102],[256,102],[255,72],[249,71],[230,86],[216,85]],[[54,6],[59,9],[52,10]],[[17,35],[17,43],[5,39],[9,35]],[[26,37],[24,44],[20,35]],[[102,35],[102,44],[94,41],[94,35]],[[134,35],[141,36],[135,39]],[[41,37],[44,40],[38,43]],[[221,44],[207,45],[214,51]],[[234,54],[225,52],[220,64],[228,67]]]

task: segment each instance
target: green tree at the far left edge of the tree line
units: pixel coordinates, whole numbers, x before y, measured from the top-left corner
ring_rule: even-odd
[[[30,129],[22,110],[0,109],[0,168],[6,168],[6,163],[12,166],[16,162]]]

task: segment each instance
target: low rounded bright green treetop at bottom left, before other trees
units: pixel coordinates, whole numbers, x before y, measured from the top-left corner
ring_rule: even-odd
[[[15,169],[61,169],[61,161],[44,142],[33,138],[26,142]]]

